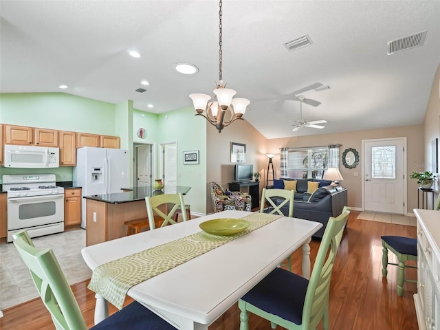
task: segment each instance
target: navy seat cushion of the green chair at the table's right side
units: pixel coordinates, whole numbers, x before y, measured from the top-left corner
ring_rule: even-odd
[[[300,325],[309,280],[297,274],[275,268],[241,298],[247,303]]]

